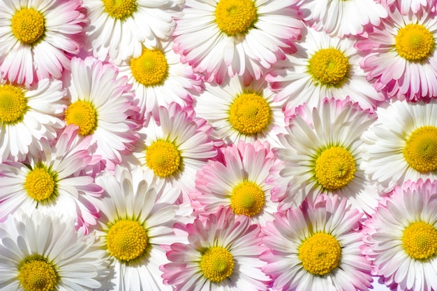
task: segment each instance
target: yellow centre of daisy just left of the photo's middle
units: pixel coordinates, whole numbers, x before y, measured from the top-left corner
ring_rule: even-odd
[[[182,156],[172,142],[157,140],[146,149],[146,164],[156,176],[168,177],[182,166]]]

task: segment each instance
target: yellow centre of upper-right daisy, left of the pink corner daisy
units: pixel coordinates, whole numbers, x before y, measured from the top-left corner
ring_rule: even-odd
[[[309,59],[308,71],[316,84],[339,87],[346,82],[350,64],[340,50],[334,48],[318,50]]]

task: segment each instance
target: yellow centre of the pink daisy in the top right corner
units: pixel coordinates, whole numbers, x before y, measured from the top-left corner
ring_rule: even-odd
[[[406,24],[395,36],[396,51],[407,61],[427,59],[434,50],[434,36],[422,24]]]

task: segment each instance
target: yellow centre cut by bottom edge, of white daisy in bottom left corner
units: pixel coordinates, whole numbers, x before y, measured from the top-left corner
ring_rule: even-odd
[[[18,270],[18,280],[24,291],[52,291],[59,277],[52,264],[45,260],[30,260]]]

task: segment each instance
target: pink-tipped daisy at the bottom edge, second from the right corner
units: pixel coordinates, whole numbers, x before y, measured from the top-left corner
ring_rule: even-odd
[[[336,195],[278,212],[262,228],[262,242],[270,249],[260,256],[274,290],[368,291],[371,266],[360,252],[361,217]]]

